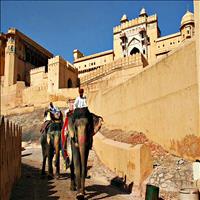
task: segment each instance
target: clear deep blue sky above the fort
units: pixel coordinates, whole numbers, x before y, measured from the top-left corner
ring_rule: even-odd
[[[15,27],[47,48],[73,62],[73,50],[85,55],[113,49],[113,27],[120,18],[138,17],[144,7],[157,13],[162,36],[179,31],[193,1],[1,1],[1,32]]]

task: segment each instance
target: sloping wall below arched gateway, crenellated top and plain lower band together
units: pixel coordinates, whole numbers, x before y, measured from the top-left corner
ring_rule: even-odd
[[[146,65],[147,61],[142,54],[118,59],[81,77],[81,87],[84,87],[86,93],[98,91],[99,88],[105,91],[140,73]]]

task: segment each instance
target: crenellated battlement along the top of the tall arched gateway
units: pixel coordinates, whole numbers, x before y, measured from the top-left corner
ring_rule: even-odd
[[[113,33],[118,33],[118,32],[121,32],[122,30],[124,29],[127,29],[127,28],[130,28],[130,27],[133,27],[133,26],[136,26],[136,25],[139,25],[139,24],[142,24],[144,22],[152,22],[152,21],[156,21],[157,20],[157,15],[151,15],[149,17],[138,17],[138,18],[135,18],[135,19],[132,19],[132,20],[129,20],[121,25],[118,25],[118,26],[115,26],[113,28]]]

